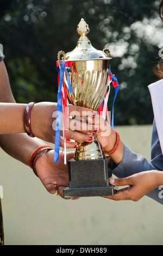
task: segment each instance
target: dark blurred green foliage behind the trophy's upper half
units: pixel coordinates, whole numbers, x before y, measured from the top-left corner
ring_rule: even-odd
[[[83,17],[93,47],[111,50],[111,71],[120,83],[115,125],[151,124],[147,86],[157,80],[152,69],[158,61],[163,31],[159,2],[1,0],[0,43],[16,101],[57,101],[57,54],[76,47],[76,28]],[[112,87],[110,111],[113,97]]]

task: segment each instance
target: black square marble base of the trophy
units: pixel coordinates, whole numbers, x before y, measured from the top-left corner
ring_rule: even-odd
[[[107,160],[68,161],[69,188],[64,197],[113,196],[109,184]]]

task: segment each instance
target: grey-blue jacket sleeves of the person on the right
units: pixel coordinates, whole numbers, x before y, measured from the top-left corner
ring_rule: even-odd
[[[148,162],[145,157],[133,153],[127,145],[124,145],[122,161],[118,166],[115,166],[115,164],[111,162],[111,166],[109,166],[108,170],[109,173],[112,172],[112,174],[115,174],[117,178],[125,178],[134,173],[143,172],[145,170],[163,170],[163,156],[155,121],[153,122],[152,131],[151,159],[152,161]],[[149,192],[146,196],[151,197],[160,204],[163,204],[163,184],[159,188]]]

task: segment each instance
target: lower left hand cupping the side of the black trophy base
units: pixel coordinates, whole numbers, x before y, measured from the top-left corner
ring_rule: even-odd
[[[73,156],[74,152],[67,152],[67,162],[71,160]],[[61,156],[59,164],[53,162],[53,157],[54,150],[49,150],[38,157],[35,163],[36,173],[49,193],[55,194],[57,190],[62,187],[59,190],[59,195],[64,198],[64,188],[68,187],[68,164],[64,164],[64,153]]]

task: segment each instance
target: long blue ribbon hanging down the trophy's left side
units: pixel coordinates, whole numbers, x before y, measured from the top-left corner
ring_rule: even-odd
[[[61,115],[62,115],[62,96],[61,96],[61,90],[62,90],[62,83],[64,81],[64,72],[66,72],[67,75],[67,83],[68,83],[68,90],[70,93],[73,93],[72,86],[70,83],[70,77],[66,70],[66,63],[61,62],[60,65],[60,72],[57,68],[57,71],[59,72],[60,79],[59,79],[59,86],[58,86],[58,95],[57,95],[57,119],[56,119],[56,126],[55,126],[55,150],[54,150],[54,162],[59,162],[59,150],[60,150],[60,132],[61,132]]]

